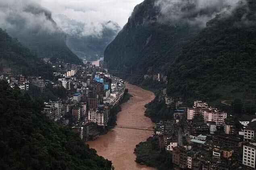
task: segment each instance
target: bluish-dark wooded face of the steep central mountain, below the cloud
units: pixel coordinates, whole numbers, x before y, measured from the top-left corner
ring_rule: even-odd
[[[121,73],[135,84],[143,81],[144,74],[164,73],[182,45],[200,30],[158,22],[160,9],[155,2],[145,0],[137,5],[128,23],[104,52],[110,71]]]

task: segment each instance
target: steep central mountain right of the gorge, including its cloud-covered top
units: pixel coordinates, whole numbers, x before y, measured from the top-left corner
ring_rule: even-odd
[[[191,40],[216,13],[229,6],[226,1],[202,6],[201,0],[144,0],[135,6],[127,24],[104,52],[112,72],[130,82],[144,74],[166,73],[183,45]]]

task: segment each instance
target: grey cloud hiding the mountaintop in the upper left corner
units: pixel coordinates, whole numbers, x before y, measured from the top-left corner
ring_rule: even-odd
[[[51,20],[51,12],[35,0],[0,1],[0,27],[19,34],[59,31]]]

